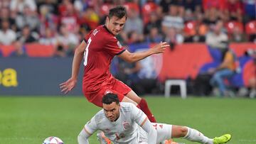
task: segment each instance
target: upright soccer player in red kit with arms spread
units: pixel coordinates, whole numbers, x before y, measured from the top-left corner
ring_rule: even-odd
[[[102,97],[107,93],[117,94],[119,101],[131,102],[137,105],[151,122],[156,122],[145,99],[140,98],[126,84],[115,79],[110,73],[110,63],[115,55],[127,62],[139,60],[161,53],[169,47],[168,44],[159,43],[144,52],[131,53],[120,45],[115,37],[122,31],[127,19],[127,12],[123,6],[110,9],[105,25],[98,26],[90,31],[82,43],[75,50],[73,58],[72,76],[60,84],[61,92],[67,94],[75,87],[79,67],[84,59],[84,75],[82,79],[82,92],[88,101],[102,107]]]

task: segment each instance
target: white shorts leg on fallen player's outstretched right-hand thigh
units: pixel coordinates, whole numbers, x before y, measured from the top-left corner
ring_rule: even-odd
[[[165,123],[152,123],[157,133],[157,142],[171,139],[172,125]]]

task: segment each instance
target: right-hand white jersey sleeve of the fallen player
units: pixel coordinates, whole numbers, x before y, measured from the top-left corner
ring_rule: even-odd
[[[135,106],[134,104],[131,105],[132,106],[132,119],[139,125],[139,126],[143,126],[144,123],[146,122],[146,120],[148,119],[146,114],[140,110],[139,108],[137,108],[137,106]]]

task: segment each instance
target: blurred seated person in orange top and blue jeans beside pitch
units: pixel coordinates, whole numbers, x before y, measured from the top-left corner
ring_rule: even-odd
[[[223,45],[226,46],[221,49],[223,57],[222,62],[218,67],[209,70],[209,73],[213,74],[213,77],[210,79],[210,84],[213,87],[218,87],[220,96],[234,96],[233,92],[228,90],[227,84],[225,84],[225,79],[230,79],[235,72],[237,72],[238,58],[236,57],[235,52],[228,47],[227,42],[223,43]]]

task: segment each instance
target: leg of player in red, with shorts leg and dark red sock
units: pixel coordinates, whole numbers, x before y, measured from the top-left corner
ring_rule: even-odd
[[[142,109],[142,111],[146,114],[146,116],[148,116],[149,121],[154,123],[156,122],[154,115],[149,110],[149,106],[146,103],[146,100],[139,97],[134,91],[132,91],[130,87],[128,87],[126,84],[119,81],[118,79],[115,79],[112,89],[114,91],[119,92],[120,94],[124,94],[124,96],[131,99],[132,101],[135,101],[139,105],[137,107],[140,107],[140,109]],[[129,102],[129,101],[126,101],[126,102]]]

